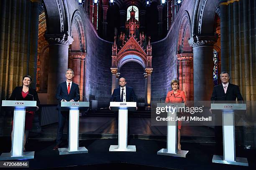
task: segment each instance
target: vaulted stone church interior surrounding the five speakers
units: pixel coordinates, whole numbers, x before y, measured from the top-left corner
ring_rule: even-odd
[[[35,150],[31,169],[256,167],[255,0],[1,0],[0,15],[0,104],[22,86],[25,75],[32,77],[30,87],[40,100],[26,143],[27,150]],[[58,129],[56,89],[66,81],[67,69],[74,71],[79,101],[90,103],[79,112],[78,134],[79,146],[88,146],[89,153],[74,157],[51,150]],[[168,131],[152,126],[151,114],[154,103],[164,102],[172,90],[172,80],[178,80],[187,101],[210,102],[223,71],[246,103],[234,141],[248,167],[212,162],[212,124],[182,122],[182,148],[191,150],[187,158],[157,155]],[[138,107],[128,124],[137,152],[123,155],[108,153],[118,139],[109,106],[120,78],[134,89]],[[0,108],[0,153],[11,150],[12,121],[13,112]],[[66,123],[66,139],[68,131]]]

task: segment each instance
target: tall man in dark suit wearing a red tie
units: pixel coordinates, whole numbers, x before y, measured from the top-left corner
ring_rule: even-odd
[[[59,145],[61,144],[61,139],[63,136],[63,129],[66,123],[66,120],[69,118],[69,112],[61,112],[61,102],[66,101],[79,101],[79,86],[72,82],[74,77],[74,71],[72,69],[67,69],[66,78],[67,80],[59,84],[56,90],[56,99],[59,101],[58,104],[58,116],[59,116],[59,125],[57,132],[56,146],[53,150],[58,150]]]

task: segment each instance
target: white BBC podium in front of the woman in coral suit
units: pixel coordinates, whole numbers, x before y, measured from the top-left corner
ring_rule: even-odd
[[[185,107],[184,103],[157,103],[157,107]],[[172,111],[173,109],[171,109]],[[176,120],[177,112],[167,112],[168,117]],[[177,150],[177,121],[167,122],[167,148],[162,148],[157,152],[157,155],[167,155],[174,157],[186,157],[187,150]]]

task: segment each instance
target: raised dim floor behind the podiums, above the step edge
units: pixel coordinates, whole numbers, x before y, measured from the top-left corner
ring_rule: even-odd
[[[58,123],[42,127],[41,134],[30,134],[33,139],[55,140]],[[130,131],[133,138],[166,140],[166,126],[151,126],[150,117],[131,117]],[[64,127],[67,133],[67,124]],[[118,137],[115,117],[87,116],[79,119],[80,139],[109,139]],[[206,126],[187,126],[183,123],[181,140],[187,142],[214,142],[214,129]]]

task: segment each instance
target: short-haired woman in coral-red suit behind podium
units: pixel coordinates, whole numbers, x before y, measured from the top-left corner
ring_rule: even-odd
[[[172,91],[168,91],[165,102],[166,103],[186,103],[186,96],[184,91],[179,90],[179,81],[172,80],[171,81]],[[182,122],[178,121],[178,150],[181,150],[180,145],[180,129]]]

